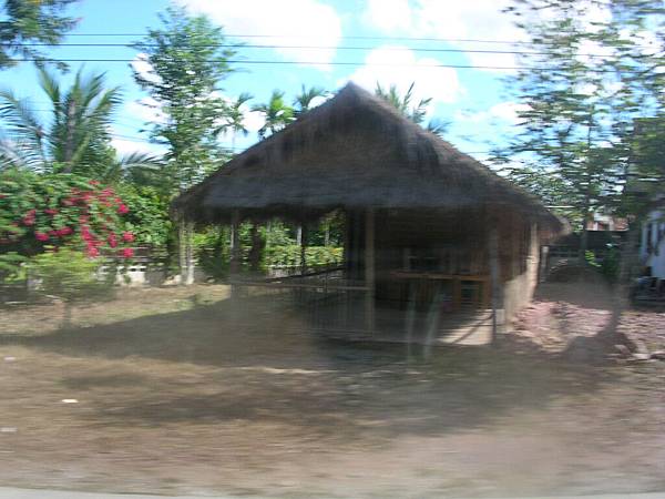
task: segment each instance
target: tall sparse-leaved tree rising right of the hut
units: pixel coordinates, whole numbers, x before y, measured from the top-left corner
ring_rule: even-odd
[[[651,62],[635,57],[622,20],[633,3],[514,0],[508,9],[531,47],[512,81],[523,105],[520,134],[504,156],[513,166],[507,170],[573,207],[581,255],[593,213],[613,208],[625,184],[634,120],[655,104],[635,79]],[[514,166],[515,159],[522,165]]]

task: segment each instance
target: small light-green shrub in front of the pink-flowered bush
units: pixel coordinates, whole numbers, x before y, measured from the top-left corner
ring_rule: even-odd
[[[34,256],[28,266],[30,275],[39,283],[40,293],[65,302],[98,298],[112,289],[111,278],[98,277],[99,261],[69,247]],[[110,275],[115,276],[114,273]]]

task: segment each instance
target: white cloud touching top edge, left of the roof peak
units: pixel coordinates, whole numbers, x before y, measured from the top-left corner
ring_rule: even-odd
[[[275,49],[286,59],[317,61],[329,70],[341,38],[341,22],[336,10],[317,0],[176,0],[192,12],[205,13],[229,34],[270,34],[257,39],[267,44],[291,45]],[[316,43],[311,43],[316,40]],[[256,41],[256,40],[255,40]],[[316,49],[293,45],[315,44]],[[325,48],[318,48],[325,47]]]

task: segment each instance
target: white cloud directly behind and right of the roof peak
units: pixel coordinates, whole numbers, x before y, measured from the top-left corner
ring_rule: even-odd
[[[372,50],[365,60],[366,65],[356,70],[348,80],[374,92],[379,82],[383,88],[395,84],[405,94],[412,82],[413,101],[432,98],[436,102],[456,102],[463,93],[457,71],[452,68],[440,68],[436,59],[418,59],[412,50],[406,47],[383,45]],[[339,81],[342,85],[345,81]]]

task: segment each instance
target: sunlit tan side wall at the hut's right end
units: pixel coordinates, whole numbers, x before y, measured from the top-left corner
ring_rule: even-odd
[[[529,242],[526,255],[523,256],[526,259],[524,271],[508,279],[503,285],[503,309],[505,320],[510,320],[515,313],[531,302],[533,292],[538,285],[540,252],[538,226],[531,224],[528,231]]]

